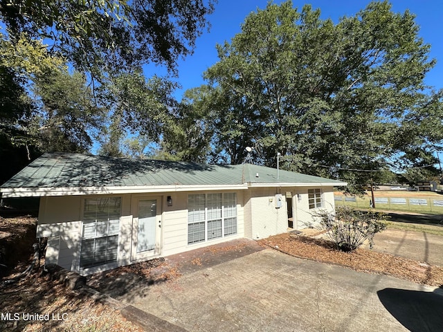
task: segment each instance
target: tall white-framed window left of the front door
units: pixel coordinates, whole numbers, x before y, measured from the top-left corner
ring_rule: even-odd
[[[80,268],[117,260],[121,198],[85,199]]]

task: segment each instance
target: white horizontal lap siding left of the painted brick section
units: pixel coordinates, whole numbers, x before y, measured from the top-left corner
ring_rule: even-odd
[[[82,214],[84,199],[94,196],[42,197],[39,208],[37,237],[48,237],[46,264],[58,264],[84,275],[100,270],[131,264],[132,202],[136,196],[156,197],[161,200],[161,256],[173,255],[215,243],[244,237],[243,192],[237,191],[237,234],[203,243],[188,245],[188,192],[164,194],[109,195],[122,198],[117,262],[80,271],[80,243],[82,241]],[[171,196],[172,206],[167,197]]]

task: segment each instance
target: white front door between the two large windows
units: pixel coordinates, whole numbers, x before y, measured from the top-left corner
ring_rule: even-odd
[[[131,259],[145,259],[161,253],[161,198],[140,196],[132,200]]]

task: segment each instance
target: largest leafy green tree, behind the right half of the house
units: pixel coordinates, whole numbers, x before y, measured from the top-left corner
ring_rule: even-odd
[[[406,130],[421,125],[411,119],[435,63],[410,12],[372,2],[334,24],[311,6],[269,3],[217,50],[206,78],[219,96],[212,106],[220,158],[239,163],[245,145],[256,145],[259,163],[275,166],[280,152],[284,169],[343,178],[354,192],[399,157],[433,160],[426,133]]]

